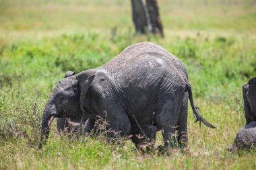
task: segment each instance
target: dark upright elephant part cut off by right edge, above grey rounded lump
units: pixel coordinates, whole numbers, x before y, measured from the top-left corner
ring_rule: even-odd
[[[256,121],[256,76],[243,85],[246,124]]]

